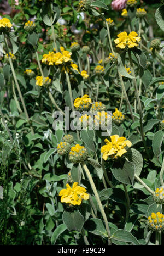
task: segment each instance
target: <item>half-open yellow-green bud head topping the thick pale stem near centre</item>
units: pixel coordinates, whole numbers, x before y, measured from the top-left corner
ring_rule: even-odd
[[[69,152],[69,160],[74,164],[84,162],[87,159],[87,156],[87,149],[84,146],[80,146],[79,144],[73,146]]]

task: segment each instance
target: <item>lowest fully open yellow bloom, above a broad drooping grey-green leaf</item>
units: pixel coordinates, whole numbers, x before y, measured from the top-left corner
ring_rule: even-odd
[[[84,187],[78,186],[78,182],[74,182],[72,188],[66,184],[66,189],[60,191],[61,203],[80,205],[82,200],[88,200],[89,194],[85,193]]]

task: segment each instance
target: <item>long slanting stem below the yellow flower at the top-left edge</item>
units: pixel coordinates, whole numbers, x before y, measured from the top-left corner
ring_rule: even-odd
[[[16,87],[17,87],[17,91],[19,92],[19,97],[21,99],[21,103],[22,103],[22,106],[24,108],[24,112],[26,114],[26,118],[27,118],[27,121],[28,121],[28,124],[29,124],[30,123],[30,118],[28,116],[26,105],[25,105],[25,102],[24,102],[24,98],[22,97],[22,93],[21,93],[21,90],[20,90],[20,87],[19,87],[19,83],[18,83],[17,78],[16,78],[13,62],[12,62],[12,60],[10,58],[10,54],[9,54],[9,47],[8,47],[7,38],[5,36],[4,36],[4,41],[5,41],[5,46],[7,47],[7,53],[9,55],[9,63],[10,63],[10,66],[11,66],[11,71],[13,73],[13,77],[14,77],[14,81],[15,81],[15,84],[16,84]],[[34,135],[33,128],[32,128],[31,125],[30,125],[30,129],[31,129],[32,135]]]

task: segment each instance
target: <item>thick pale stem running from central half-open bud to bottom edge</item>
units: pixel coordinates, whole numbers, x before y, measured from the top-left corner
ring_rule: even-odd
[[[86,164],[83,163],[82,166],[83,166],[83,168],[84,168],[84,170],[85,170],[85,172],[86,172],[86,175],[87,175],[87,177],[88,177],[88,179],[89,179],[89,181],[90,181],[90,184],[91,184],[93,193],[95,194],[95,197],[96,197],[96,200],[97,200],[99,209],[101,210],[101,213],[102,213],[102,216],[103,216],[105,225],[106,225],[106,231],[107,231],[107,233],[108,233],[108,244],[111,244],[111,241],[110,241],[110,230],[109,230],[109,225],[108,225],[107,216],[106,216],[106,213],[104,212],[104,208],[103,208],[103,206],[102,206],[101,200],[99,199],[99,196],[98,196],[98,192],[97,192],[97,190],[96,190],[95,183],[94,183],[93,180],[92,180],[92,176],[91,176],[90,171],[89,171],[89,169],[87,168]]]

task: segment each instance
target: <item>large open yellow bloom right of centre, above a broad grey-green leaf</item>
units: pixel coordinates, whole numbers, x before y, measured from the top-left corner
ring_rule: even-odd
[[[106,145],[102,146],[101,153],[103,153],[103,159],[107,160],[109,156],[114,158],[121,157],[122,154],[126,153],[125,147],[131,147],[132,143],[126,140],[125,137],[119,137],[119,135],[110,136],[111,142],[109,140],[104,140]]]

